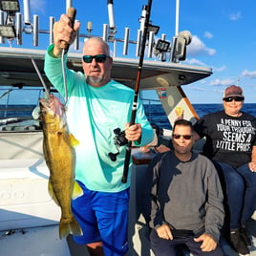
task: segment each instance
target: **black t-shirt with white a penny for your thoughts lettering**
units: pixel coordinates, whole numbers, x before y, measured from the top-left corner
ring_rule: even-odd
[[[256,145],[256,118],[242,113],[230,117],[224,111],[205,115],[194,125],[201,138],[205,136],[203,155],[238,167],[251,160]]]

